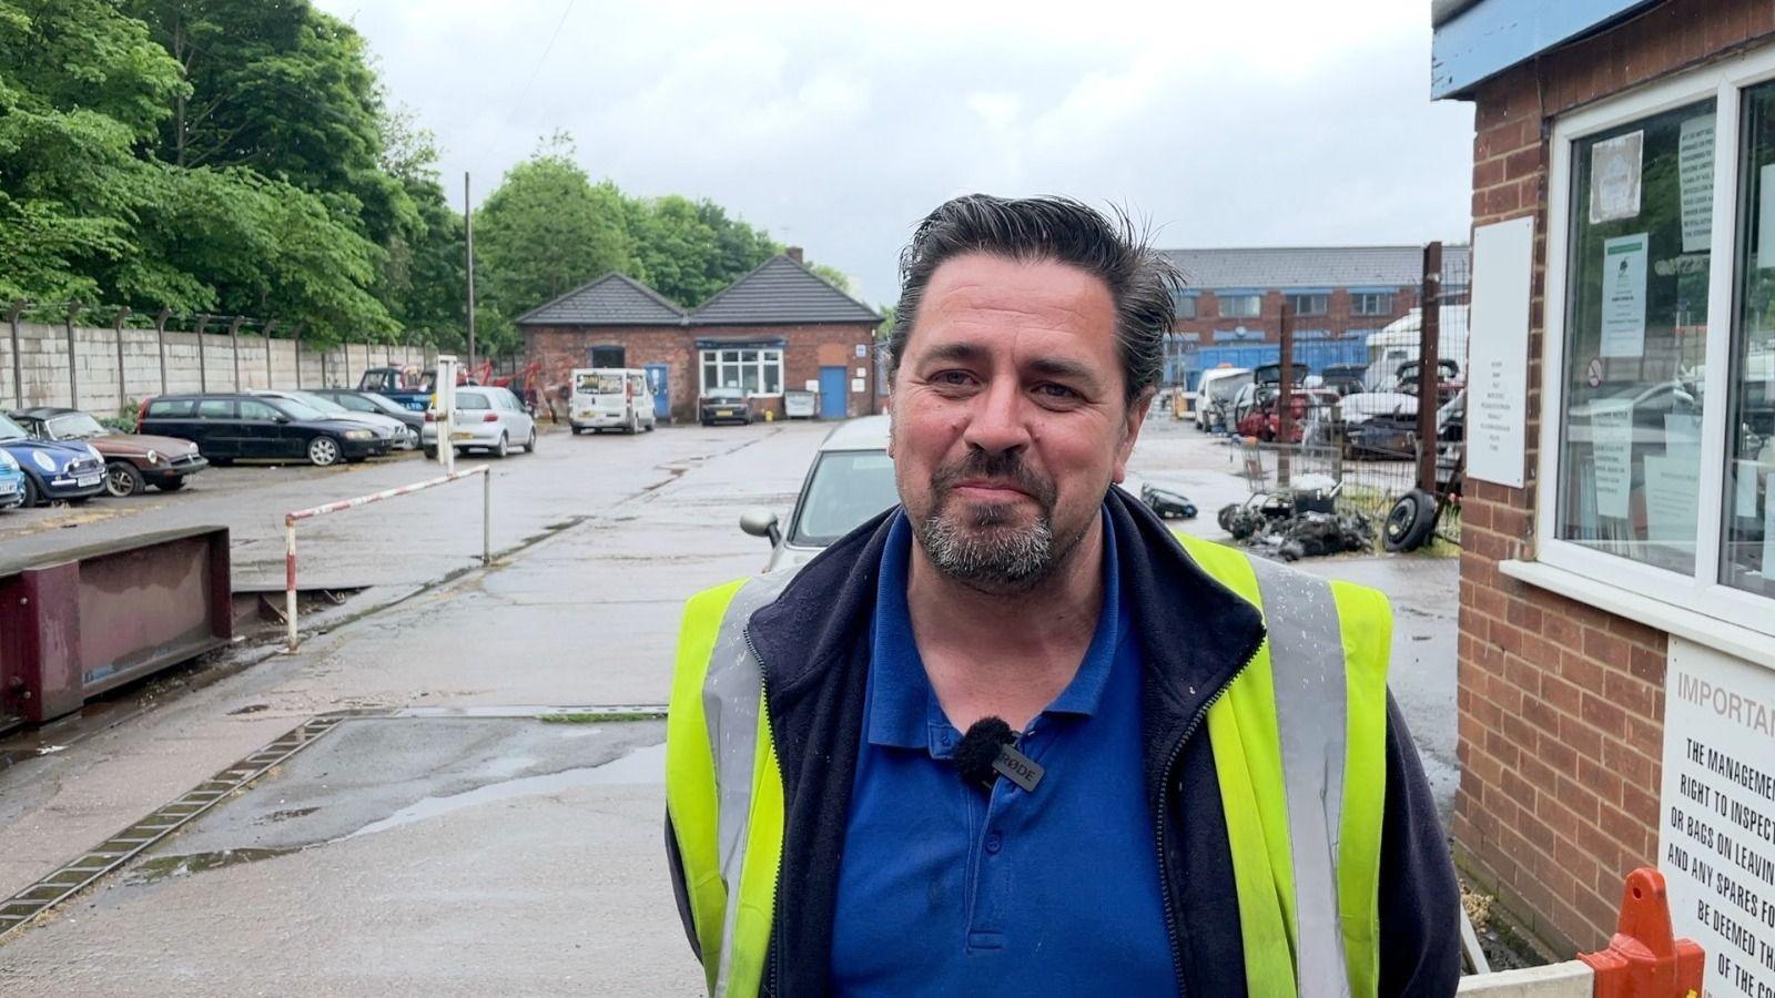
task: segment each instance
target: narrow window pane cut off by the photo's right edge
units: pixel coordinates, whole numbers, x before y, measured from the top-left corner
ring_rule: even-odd
[[[1775,83],[1745,91],[1743,105],[1720,581],[1775,597]]]

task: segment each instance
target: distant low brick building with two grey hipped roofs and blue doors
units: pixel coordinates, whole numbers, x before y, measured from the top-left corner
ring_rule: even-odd
[[[824,419],[877,412],[872,348],[880,314],[808,270],[799,249],[767,259],[685,311],[605,273],[524,316],[524,352],[543,384],[573,368],[643,368],[662,417],[696,419],[708,387],[740,387],[753,412],[785,416],[785,391],[813,391]],[[660,391],[664,389],[664,391]]]

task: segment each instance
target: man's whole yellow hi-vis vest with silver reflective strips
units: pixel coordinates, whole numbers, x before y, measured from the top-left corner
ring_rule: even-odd
[[[1372,998],[1386,803],[1392,611],[1179,535],[1209,575],[1264,613],[1267,638],[1209,707],[1251,998]],[[744,629],[786,572],[690,598],[666,721],[666,808],[710,994],[754,996],[783,858],[783,776]],[[1163,875],[1163,874],[1161,874]]]

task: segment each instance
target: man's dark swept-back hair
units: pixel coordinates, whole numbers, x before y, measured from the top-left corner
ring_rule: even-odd
[[[1125,211],[1106,217],[1070,197],[967,194],[943,202],[918,224],[900,252],[900,307],[888,336],[889,375],[900,373],[905,341],[930,275],[944,261],[985,252],[1015,261],[1067,263],[1099,277],[1115,298],[1115,336],[1127,401],[1164,376],[1164,334],[1175,321],[1173,289],[1182,275],[1147,245]]]

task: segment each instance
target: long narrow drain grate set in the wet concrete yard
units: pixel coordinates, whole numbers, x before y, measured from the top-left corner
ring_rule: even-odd
[[[0,943],[57,904],[92,886],[99,877],[122,867],[149,845],[172,835],[185,822],[208,812],[217,801],[225,799],[229,794],[264,776],[273,765],[309,748],[344,719],[344,714],[328,714],[298,725],[263,749],[204,780],[178,801],[106,838],[98,849],[0,902]]]

